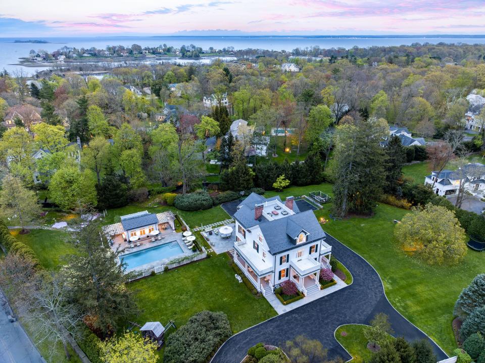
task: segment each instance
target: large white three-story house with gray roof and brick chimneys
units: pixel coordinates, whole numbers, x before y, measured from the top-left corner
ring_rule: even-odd
[[[330,267],[332,247],[313,211],[300,212],[294,197],[252,193],[234,214],[234,262],[265,294],[293,281],[306,296],[320,290],[322,267]]]

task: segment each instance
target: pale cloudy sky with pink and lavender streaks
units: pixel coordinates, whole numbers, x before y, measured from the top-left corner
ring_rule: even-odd
[[[22,0],[0,9],[0,37],[218,34],[485,34],[485,0]]]

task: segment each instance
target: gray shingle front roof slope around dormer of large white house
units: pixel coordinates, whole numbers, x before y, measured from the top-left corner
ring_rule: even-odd
[[[305,230],[308,232],[307,242],[317,241],[325,237],[325,232],[323,232],[313,211],[266,222],[261,224],[259,228],[268,244],[269,251],[273,255],[296,246],[295,239],[290,237],[288,232],[295,234],[297,229],[299,229],[299,232]]]

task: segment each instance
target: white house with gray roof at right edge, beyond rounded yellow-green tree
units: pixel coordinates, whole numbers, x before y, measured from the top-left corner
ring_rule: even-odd
[[[424,178],[424,185],[433,183],[433,192],[438,195],[456,194],[460,185],[471,194],[482,194],[485,191],[485,165],[468,163],[457,171],[433,171]]]

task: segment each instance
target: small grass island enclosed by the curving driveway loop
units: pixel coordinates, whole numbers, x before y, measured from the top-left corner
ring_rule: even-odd
[[[372,356],[372,352],[367,349],[364,328],[365,325],[348,324],[335,330],[335,339],[353,356],[354,363],[369,361]],[[343,336],[343,332],[347,335]]]

